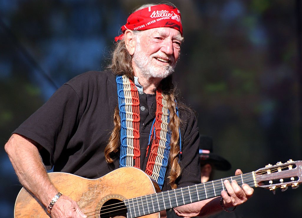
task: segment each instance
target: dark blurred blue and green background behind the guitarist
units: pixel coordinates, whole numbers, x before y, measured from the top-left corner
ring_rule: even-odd
[[[133,8],[160,1],[0,0],[1,217],[13,217],[21,185],[4,151],[11,132],[56,89],[102,70]],[[174,80],[214,152],[251,172],[301,160],[301,0],[171,0],[185,42]],[[24,157],[26,158],[26,157]],[[302,187],[255,188],[238,217],[301,217]]]

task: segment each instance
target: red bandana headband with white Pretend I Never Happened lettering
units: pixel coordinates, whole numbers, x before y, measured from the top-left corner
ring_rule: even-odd
[[[180,11],[170,5],[154,5],[135,11],[121,27],[122,34],[114,38],[115,42],[124,38],[125,30],[149,30],[157,27],[170,27],[182,35]]]

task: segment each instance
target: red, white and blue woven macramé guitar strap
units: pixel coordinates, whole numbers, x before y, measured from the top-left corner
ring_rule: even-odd
[[[120,167],[140,168],[140,101],[137,87],[125,75],[117,76],[116,82],[121,126]],[[176,112],[178,115],[178,109]],[[161,90],[157,89],[156,114],[149,135],[147,152],[149,146],[151,146],[151,149],[146,173],[156,180],[160,188],[164,184],[170,153],[171,131],[168,128],[169,114],[167,100],[163,97]]]

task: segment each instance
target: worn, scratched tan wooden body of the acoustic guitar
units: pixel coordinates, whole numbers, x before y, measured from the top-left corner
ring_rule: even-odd
[[[49,173],[48,175],[56,188],[63,195],[75,200],[88,217],[126,217],[125,210],[114,215],[101,214],[103,213],[101,210],[106,205],[114,205],[125,199],[160,191],[158,185],[147,174],[134,167],[119,168],[98,179],[85,179],[70,173]],[[14,217],[49,216],[47,209],[22,188],[15,202]],[[159,213],[143,217],[158,218]]]

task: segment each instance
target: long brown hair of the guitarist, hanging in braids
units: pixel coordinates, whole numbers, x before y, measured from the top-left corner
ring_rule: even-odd
[[[153,6],[156,4],[146,4],[138,8],[137,10]],[[136,10],[136,11],[137,11]],[[134,34],[138,34],[139,31],[133,31]],[[117,42],[115,49],[112,53],[111,64],[108,69],[112,70],[117,75],[127,75],[129,79],[133,81],[134,73],[132,67],[132,56],[127,51],[124,39]],[[170,172],[169,172],[169,184],[172,188],[177,188],[176,179],[181,174],[181,167],[179,165],[179,126],[180,119],[176,114],[175,103],[175,87],[172,83],[172,75],[162,79],[160,83],[162,89],[162,95],[167,98],[167,104],[170,111],[169,128],[171,129],[171,149],[169,154]],[[114,110],[114,129],[111,132],[108,145],[105,148],[105,158],[107,163],[112,163],[113,159],[111,154],[117,153],[120,148],[120,115],[118,106]]]

